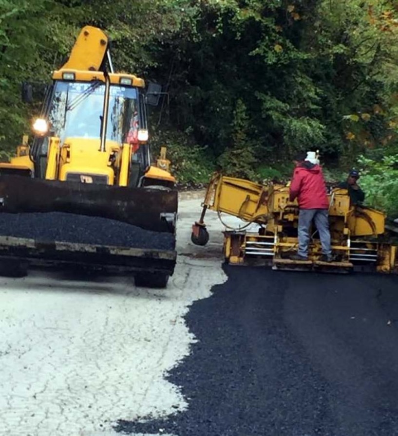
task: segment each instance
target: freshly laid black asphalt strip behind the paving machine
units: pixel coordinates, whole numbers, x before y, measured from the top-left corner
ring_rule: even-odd
[[[189,408],[122,433],[398,435],[398,276],[226,267],[169,374]],[[145,418],[145,417],[143,417]]]

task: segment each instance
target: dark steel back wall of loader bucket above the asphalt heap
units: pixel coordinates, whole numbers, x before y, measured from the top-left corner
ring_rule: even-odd
[[[67,212],[174,233],[176,191],[0,176],[0,212]]]

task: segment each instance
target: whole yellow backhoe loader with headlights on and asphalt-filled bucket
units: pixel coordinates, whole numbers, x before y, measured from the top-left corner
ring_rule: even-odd
[[[24,84],[23,101],[33,91]],[[178,198],[165,150],[151,163],[147,126],[160,91],[115,73],[105,33],[81,30],[52,74],[33,141],[0,164],[2,272],[79,266],[167,285]]]

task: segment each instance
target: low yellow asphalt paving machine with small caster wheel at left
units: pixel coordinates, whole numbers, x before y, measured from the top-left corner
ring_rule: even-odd
[[[220,219],[225,213],[246,221],[224,232],[224,255],[230,264],[268,265],[275,270],[398,273],[397,246],[386,235],[385,215],[352,205],[346,189],[331,188],[328,198],[333,262],[321,261],[316,229],[312,231],[308,261],[289,259],[298,248],[299,209],[297,200],[289,201],[288,185],[263,185],[221,174],[214,174],[209,182],[191,240],[196,245],[207,244],[204,218],[210,209]],[[250,224],[257,224],[257,229],[251,230]]]

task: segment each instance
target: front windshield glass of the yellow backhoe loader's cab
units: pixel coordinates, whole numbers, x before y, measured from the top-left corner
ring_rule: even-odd
[[[56,136],[100,138],[104,106],[103,82],[57,82],[49,108],[49,121]],[[126,142],[133,120],[137,120],[137,90],[111,85],[106,137]]]

